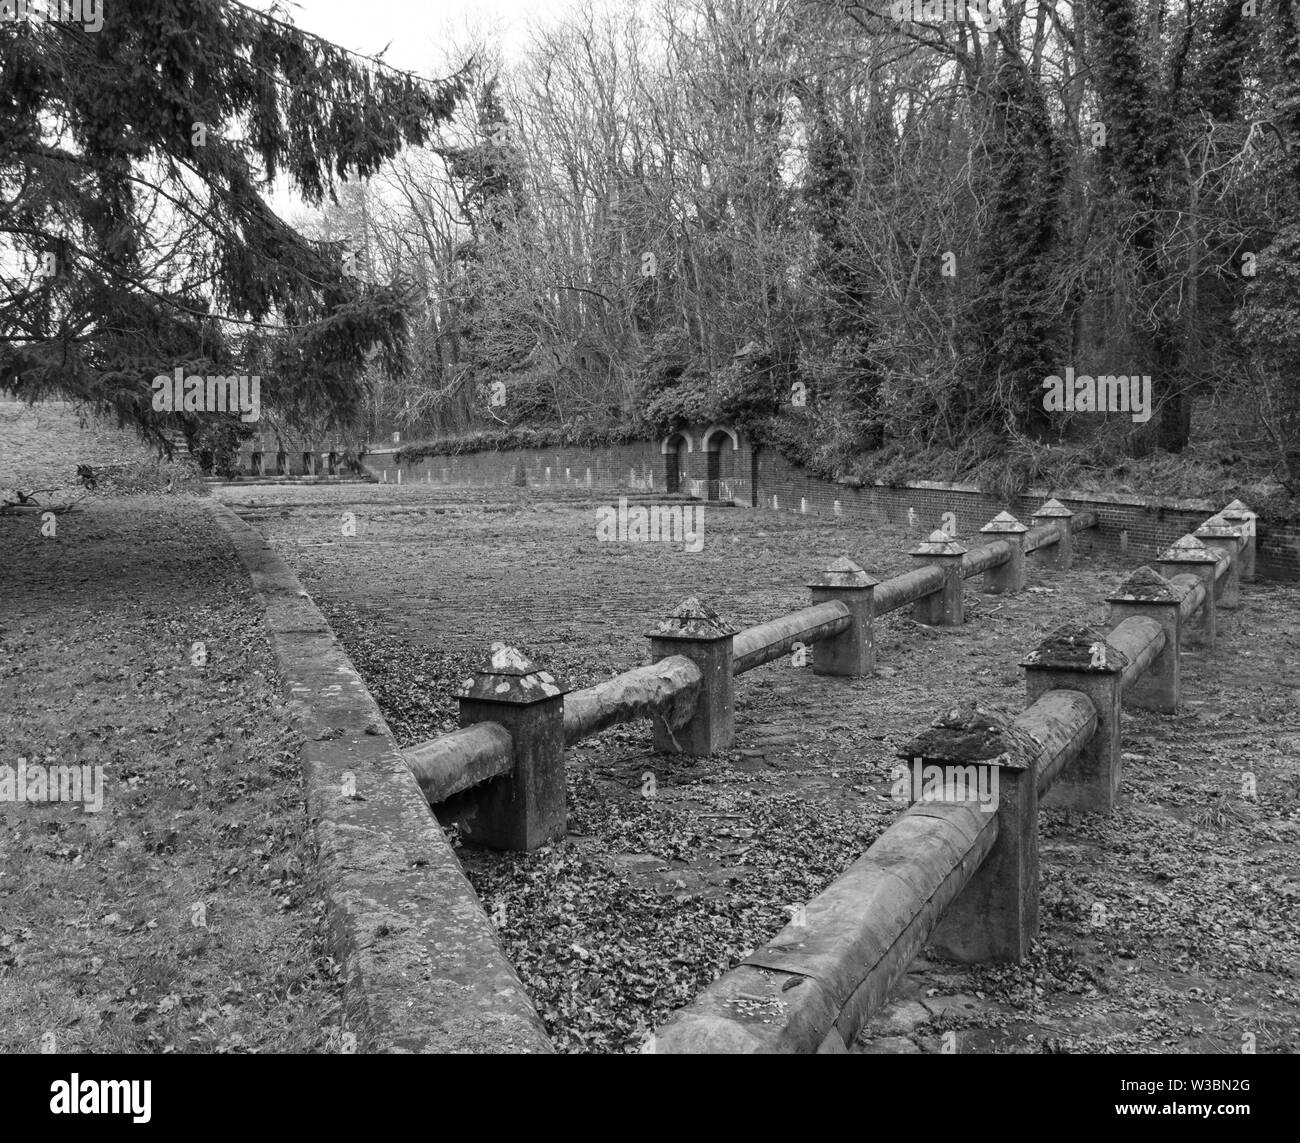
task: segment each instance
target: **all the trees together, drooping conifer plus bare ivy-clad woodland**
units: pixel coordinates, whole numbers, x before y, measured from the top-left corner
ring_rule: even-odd
[[[260,363],[273,424],[384,442],[724,421],[823,475],[1300,492],[1296,0],[994,10],[592,3],[438,81],[216,0],[0,25],[0,386],[151,432],[156,372]],[[1067,365],[1156,415],[1046,414]]]

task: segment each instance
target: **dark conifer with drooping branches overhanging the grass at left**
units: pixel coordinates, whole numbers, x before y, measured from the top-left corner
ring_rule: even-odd
[[[406,290],[365,285],[266,191],[333,198],[462,94],[229,0],[0,22],[0,389],[161,441],[155,374],[259,373],[264,402],[346,423],[367,360],[402,364]]]

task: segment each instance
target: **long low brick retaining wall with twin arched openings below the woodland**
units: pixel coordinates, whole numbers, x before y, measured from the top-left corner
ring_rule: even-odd
[[[684,446],[684,447],[680,447]],[[471,453],[436,456],[403,467],[403,481],[433,484],[512,484],[523,462],[528,482],[537,489],[577,486],[601,490],[667,492],[680,464],[681,492],[708,498],[710,449],[715,450],[716,495],[742,506],[810,515],[841,515],[863,521],[889,521],[939,528],[945,512],[956,518],[958,538],[968,547],[980,542],[980,525],[1004,508],[1030,523],[1049,495],[1035,489],[1009,503],[968,485],[914,482],[902,486],[857,485],[820,480],[786,462],[772,449],[754,449],[749,440],[716,427],[693,427],[666,441],[642,441],[608,449],[521,449],[510,453]],[[396,479],[393,453],[370,453],[367,466],[378,476]],[[428,473],[428,477],[426,477]],[[757,477],[757,481],[755,481]],[[1222,501],[1157,501],[1134,495],[1052,492],[1074,511],[1097,514],[1091,542],[1124,555],[1135,567],[1149,562],[1179,536],[1193,531],[1222,508]],[[909,515],[911,512],[913,515]],[[1261,520],[1257,567],[1260,575],[1300,579],[1300,520]]]

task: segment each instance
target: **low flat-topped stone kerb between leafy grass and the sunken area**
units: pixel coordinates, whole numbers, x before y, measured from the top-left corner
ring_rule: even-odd
[[[344,1030],[376,1052],[552,1052],[393,732],[290,567],[208,503],[266,611],[303,737]],[[355,785],[355,795],[350,791]]]

